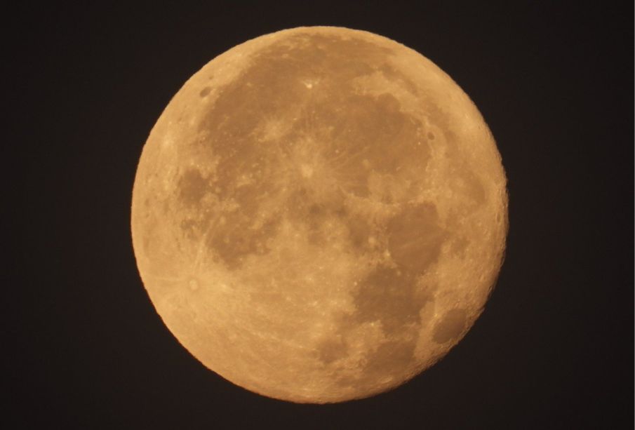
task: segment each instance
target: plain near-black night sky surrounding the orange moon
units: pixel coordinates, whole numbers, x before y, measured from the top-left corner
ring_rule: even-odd
[[[310,3],[4,15],[5,428],[632,429],[632,5]],[[258,396],[192,358],[149,302],[129,232],[142,145],[182,83],[300,25],[365,29],[436,62],[509,180],[507,258],[474,328],[403,387],[335,405]]]

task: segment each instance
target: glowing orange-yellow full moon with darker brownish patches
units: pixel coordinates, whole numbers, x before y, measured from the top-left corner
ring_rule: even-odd
[[[250,391],[333,403],[448,353],[495,285],[500,154],[472,100],[377,34],[299,27],[208,62],[143,147],[133,247],[183,347]]]

